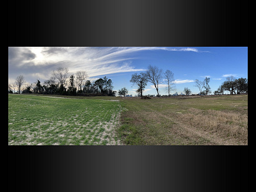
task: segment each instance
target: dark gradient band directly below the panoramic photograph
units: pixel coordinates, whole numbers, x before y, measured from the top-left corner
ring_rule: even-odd
[[[14,191],[247,191],[248,147],[8,147]]]

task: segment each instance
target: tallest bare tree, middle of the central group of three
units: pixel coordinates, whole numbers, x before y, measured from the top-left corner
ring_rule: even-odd
[[[158,67],[152,67],[151,65],[148,66],[148,70],[146,71],[147,79],[150,83],[153,83],[156,91],[157,91],[157,97],[159,97],[159,89],[158,85],[162,83],[163,75],[162,70]]]

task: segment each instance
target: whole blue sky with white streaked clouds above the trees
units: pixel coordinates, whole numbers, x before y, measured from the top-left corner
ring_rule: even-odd
[[[92,82],[106,76],[113,90],[127,88],[136,95],[130,83],[134,73],[145,72],[148,65],[171,70],[175,90],[171,94],[199,93],[195,79],[210,78],[212,94],[228,76],[248,79],[248,47],[8,47],[8,82],[14,84],[19,75],[26,83],[42,83],[58,67],[67,67],[68,77],[84,70]],[[76,78],[76,75],[75,75]],[[159,85],[161,95],[167,95],[166,82]],[[157,95],[152,83],[147,83],[143,95]]]

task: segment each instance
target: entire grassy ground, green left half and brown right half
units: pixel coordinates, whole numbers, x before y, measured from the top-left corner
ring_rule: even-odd
[[[9,94],[8,144],[248,145],[248,95],[59,97]]]

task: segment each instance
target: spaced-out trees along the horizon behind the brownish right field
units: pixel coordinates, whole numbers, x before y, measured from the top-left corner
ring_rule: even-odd
[[[174,74],[170,70],[166,70],[163,73],[163,70],[158,67],[153,67],[149,65],[146,72],[141,72],[140,74],[132,74],[130,82],[132,86],[136,86],[138,89],[136,92],[138,96],[143,97],[142,93],[147,86],[147,83],[150,82],[154,84],[154,88],[156,88],[157,97],[160,97],[159,93],[159,84],[165,82],[167,84],[166,92],[168,92],[168,97],[170,97],[170,92],[175,90],[174,87]],[[195,79],[195,85],[199,88],[199,93],[197,95],[209,95],[211,92],[211,87],[209,86],[210,77],[205,77],[204,81],[199,81]],[[226,78],[226,81],[221,84],[221,86],[214,92],[214,95],[223,94],[224,91],[230,92],[230,94],[241,94],[241,93],[248,93],[248,79],[246,78],[239,78],[236,79],[234,76],[230,76]],[[189,88],[184,88],[184,92],[186,95],[191,94],[191,90]],[[122,88],[118,91],[119,95],[127,95],[128,90],[126,88]]]

